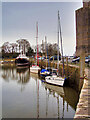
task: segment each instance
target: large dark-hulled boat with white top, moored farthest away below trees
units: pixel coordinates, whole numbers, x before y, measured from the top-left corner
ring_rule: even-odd
[[[16,66],[29,66],[29,58],[25,54],[20,54],[16,59],[15,59],[15,64]]]

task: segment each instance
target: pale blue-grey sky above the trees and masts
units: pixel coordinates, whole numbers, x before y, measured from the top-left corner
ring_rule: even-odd
[[[64,55],[73,55],[76,46],[75,10],[81,2],[2,2],[2,42],[25,38],[36,45],[38,21],[40,44],[57,42],[57,11],[60,12]]]

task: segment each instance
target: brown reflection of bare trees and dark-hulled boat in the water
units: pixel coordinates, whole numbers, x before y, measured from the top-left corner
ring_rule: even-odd
[[[25,84],[29,82],[30,69],[29,68],[19,68],[15,66],[3,66],[2,67],[2,78],[9,82],[10,80],[16,80],[20,84]]]

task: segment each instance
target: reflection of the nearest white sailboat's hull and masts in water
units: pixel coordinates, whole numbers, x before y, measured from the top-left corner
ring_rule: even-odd
[[[56,102],[57,102],[57,117],[60,118],[60,98],[62,97],[63,98],[62,118],[64,118],[64,103],[65,103],[65,101],[64,101],[64,89],[63,89],[63,87],[45,84],[45,89],[46,89],[46,96],[47,96],[47,99],[46,99],[47,113],[48,113],[49,96],[53,95],[53,97],[56,98]]]

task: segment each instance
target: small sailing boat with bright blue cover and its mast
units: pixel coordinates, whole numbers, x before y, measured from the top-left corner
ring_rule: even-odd
[[[45,68],[45,69],[42,69],[42,70],[40,71],[41,77],[46,77],[46,76],[48,76],[48,75],[51,74],[51,69],[50,69],[50,67],[47,66],[48,49],[47,49],[46,36],[45,36],[45,43],[46,43],[46,68]],[[48,59],[48,65],[49,65],[49,59]]]

